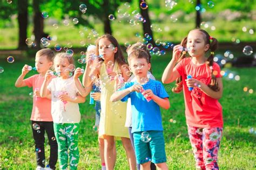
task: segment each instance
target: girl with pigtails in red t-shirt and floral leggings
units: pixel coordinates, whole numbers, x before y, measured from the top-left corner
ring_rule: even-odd
[[[218,102],[223,94],[220,67],[213,62],[217,39],[200,29],[192,30],[173,48],[173,57],[165,68],[162,81],[171,83],[177,79],[173,91],[184,91],[188,135],[196,158],[196,168],[219,169],[218,150],[223,133],[222,108]],[[183,48],[190,48],[188,58]],[[206,52],[211,55],[206,58]],[[178,63],[176,65],[176,63]],[[176,66],[175,66],[176,65]],[[191,79],[187,79],[191,75]],[[190,89],[188,89],[190,88]]]

